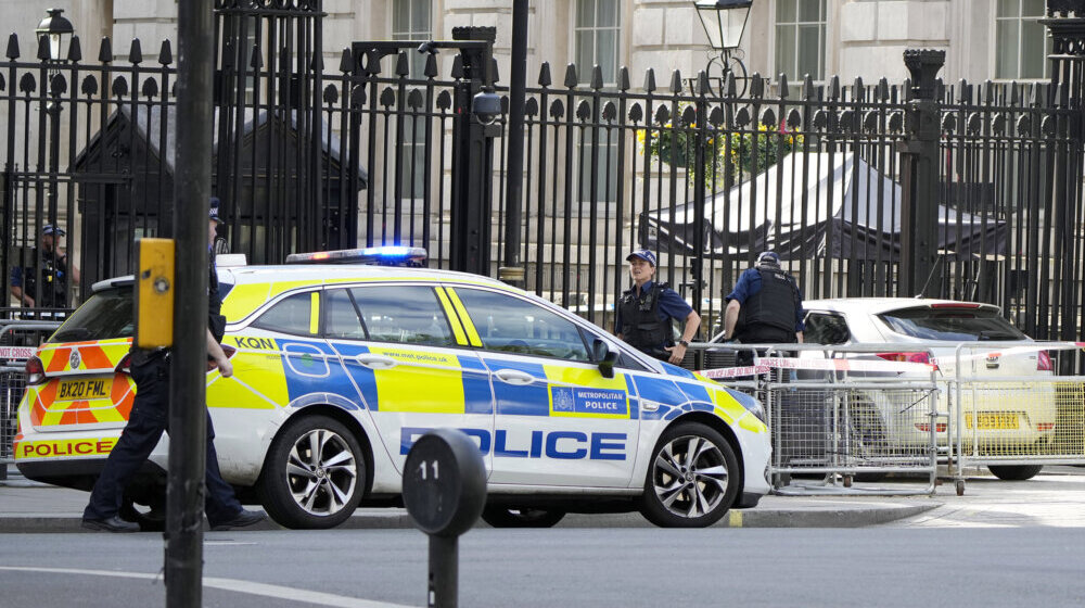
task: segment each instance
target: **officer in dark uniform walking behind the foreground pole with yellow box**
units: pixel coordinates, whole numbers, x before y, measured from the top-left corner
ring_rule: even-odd
[[[218,200],[212,199],[210,226],[207,246],[215,242],[215,228],[221,221],[218,218]],[[222,300],[218,294],[218,275],[215,271],[215,258],[210,258],[209,282],[207,292],[208,328],[207,356],[218,366],[224,378],[233,375],[233,366],[222,352],[219,341],[226,329],[226,319],[219,314]],[[139,525],[120,519],[119,509],[128,482],[143,466],[148,456],[157,445],[169,420],[169,350],[154,351],[133,349],[131,353],[131,375],[136,380],[136,402],[132,404],[128,425],[125,426],[120,439],[110,452],[102,474],[94,483],[90,494],[90,503],[82,512],[82,527],[91,530],[108,532],[138,532]],[[258,511],[242,508],[233,495],[233,489],[226,483],[218,470],[218,455],[215,453],[215,429],[212,426],[210,413],[207,414],[207,464],[206,515],[212,530],[229,530],[252,525],[265,519]]]

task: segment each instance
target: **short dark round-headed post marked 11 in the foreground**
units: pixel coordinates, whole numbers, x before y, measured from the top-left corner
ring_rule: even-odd
[[[414,442],[404,464],[404,504],[430,535],[427,606],[456,608],[459,536],[486,504],[486,468],[478,446],[455,429],[434,429]]]

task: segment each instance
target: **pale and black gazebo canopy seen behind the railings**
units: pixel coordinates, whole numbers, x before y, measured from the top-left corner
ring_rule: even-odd
[[[756,177],[705,200],[704,251],[775,251],[783,259],[833,257],[895,262],[901,249],[901,185],[854,153],[788,154]],[[694,256],[692,204],[641,214],[641,246]],[[939,204],[937,244],[947,259],[1006,252],[1005,220]]]

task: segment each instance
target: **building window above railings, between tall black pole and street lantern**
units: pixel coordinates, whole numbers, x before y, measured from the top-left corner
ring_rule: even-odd
[[[591,68],[596,65],[603,73],[604,84],[613,85],[617,81],[621,26],[620,0],[576,0],[574,52],[577,76],[582,83],[588,81]]]

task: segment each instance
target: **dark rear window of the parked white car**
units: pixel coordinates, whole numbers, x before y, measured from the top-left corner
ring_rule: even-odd
[[[923,306],[891,311],[878,317],[893,331],[923,340],[978,342],[1027,339],[991,308]]]

